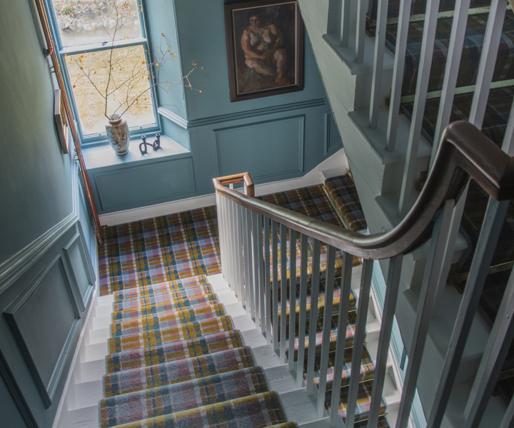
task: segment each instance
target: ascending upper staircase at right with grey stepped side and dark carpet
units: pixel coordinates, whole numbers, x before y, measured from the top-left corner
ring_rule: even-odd
[[[366,2],[351,0],[298,0],[298,4],[334,118],[341,136],[346,137],[343,145],[371,233],[393,229],[418,198],[423,175],[426,177],[433,165],[442,131],[450,121],[470,121],[512,156],[514,68],[510,40],[514,15],[506,1],[371,0],[366,6]],[[473,183],[470,192],[476,195]],[[445,248],[445,273],[437,285],[434,325],[428,331],[418,379],[425,414],[433,408],[438,375],[463,301],[460,293],[468,278],[469,254],[478,238],[473,223],[481,224],[488,203],[484,196],[485,202],[476,210],[471,198],[471,194],[467,202],[461,198],[455,208],[456,220],[449,234],[456,242]],[[472,219],[468,221],[472,239],[458,233],[461,213],[463,223]],[[505,243],[499,244],[495,253],[503,259],[495,256],[490,263],[492,271],[482,297],[485,309],[470,327],[470,340],[456,374],[459,387],[453,390],[443,426],[463,427],[463,419],[470,414],[471,404],[464,407],[480,374],[480,360],[493,325],[490,316],[484,319],[482,314],[492,306],[493,312],[498,311],[512,267],[507,244],[512,242],[508,238],[511,219],[508,214],[500,233],[500,241],[505,239]],[[425,246],[403,260],[395,315],[409,358],[427,255]],[[493,267],[502,263],[507,271],[495,273]],[[381,262],[381,267],[386,276],[388,265]],[[448,272],[449,285],[445,280]],[[460,282],[458,290],[453,287],[455,282]],[[508,368],[505,363],[505,370]],[[481,427],[500,426],[495,415],[499,418],[505,413],[511,387],[510,391],[503,399],[496,394],[491,397],[490,417],[484,417]]]

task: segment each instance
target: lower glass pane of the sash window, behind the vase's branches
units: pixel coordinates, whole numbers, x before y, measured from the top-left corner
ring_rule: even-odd
[[[156,123],[143,46],[69,55],[64,59],[85,135],[104,133],[106,116],[115,113],[123,114],[129,127]]]

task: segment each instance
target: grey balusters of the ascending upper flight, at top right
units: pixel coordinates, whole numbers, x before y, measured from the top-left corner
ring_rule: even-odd
[[[381,106],[385,106],[385,99],[383,99],[384,91],[381,86],[383,83],[385,32],[388,24],[388,0],[376,1],[378,2],[378,7],[375,26],[375,46],[372,60],[373,76],[371,79],[371,97],[369,103],[370,128],[376,128],[378,126],[379,108]],[[412,0],[401,0],[398,14],[395,58],[393,64],[393,81],[388,107],[388,124],[387,130],[384,130],[385,146],[390,151],[395,150],[397,139],[411,4]],[[428,96],[428,83],[432,65],[435,30],[439,17],[439,4],[440,0],[427,1],[425,15],[423,17],[423,39],[421,43],[418,78],[416,81],[415,96],[413,97],[413,113],[410,121],[410,133],[408,136],[403,181],[400,189],[400,200],[398,203],[400,217],[408,212],[413,200],[412,195],[416,183],[416,161],[418,158],[418,148],[425,112],[425,103]],[[343,47],[349,46],[351,41],[355,41],[354,47],[356,63],[362,63],[364,58],[367,12],[366,5],[367,2],[364,0],[329,0],[327,33],[332,36],[334,34],[340,34],[341,36],[336,39],[338,39],[340,46]],[[491,1],[488,23],[483,41],[483,49],[480,55],[480,64],[478,66],[478,76],[475,86],[470,87],[473,90],[473,102],[468,120],[478,128],[481,128],[482,126],[485,107],[487,106],[506,8],[507,0]],[[430,168],[435,161],[435,154],[438,151],[438,142],[442,136],[443,129],[445,129],[445,127],[448,126],[448,123],[450,123],[450,113],[453,106],[453,98],[455,96],[469,11],[470,0],[455,1],[453,24],[445,65],[445,75],[443,78],[443,88],[442,91],[440,91],[440,106],[438,119],[435,125],[435,136],[432,156],[430,158]],[[353,33],[355,34],[353,35]],[[469,90],[469,88],[467,90]],[[509,123],[511,122],[512,126],[508,127],[508,130],[510,131],[510,139],[512,139],[514,131],[513,115],[510,115]]]

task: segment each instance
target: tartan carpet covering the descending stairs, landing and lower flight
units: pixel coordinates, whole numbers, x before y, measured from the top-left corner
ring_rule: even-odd
[[[321,185],[263,198],[341,225]],[[268,389],[262,367],[256,365],[251,348],[245,346],[241,332],[235,330],[233,320],[208,284],[206,275],[219,272],[216,208],[106,229],[107,242],[100,263],[101,291],[113,294],[114,311],[104,375],[105,398],[99,402],[101,427],[298,427],[295,422],[287,422],[278,394]],[[299,245],[296,250],[299,255]],[[337,258],[340,271],[340,253]],[[322,248],[321,260],[313,345],[318,360],[325,305],[326,248]],[[354,265],[358,263],[354,260]],[[309,267],[308,274],[311,272]],[[299,276],[299,264],[297,273]],[[279,283],[280,280],[278,277]],[[298,277],[295,282],[299,290]],[[290,283],[287,278],[287,289]],[[332,351],[336,349],[339,293],[336,280],[331,314]],[[308,313],[311,302],[309,286]],[[288,323],[289,302],[286,307]],[[357,299],[352,293],[342,399],[351,376],[356,307]],[[297,296],[296,334],[298,311]],[[281,314],[278,322],[280,317]],[[307,336],[307,348],[308,345]],[[333,358],[331,352],[328,393],[332,389]],[[318,365],[319,361],[316,383]],[[359,373],[356,427],[367,417],[371,396],[366,396],[366,382],[373,379],[373,373],[374,365],[365,347]],[[344,409],[343,404],[340,407]],[[385,404],[382,411],[385,412]],[[381,416],[378,427],[388,427],[385,416]]]

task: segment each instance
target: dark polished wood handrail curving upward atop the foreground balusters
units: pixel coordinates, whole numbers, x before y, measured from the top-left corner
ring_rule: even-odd
[[[214,178],[216,192],[288,228],[366,259],[391,258],[423,245],[446,200],[458,200],[469,177],[496,200],[514,196],[514,158],[466,121],[450,123],[418,200],[405,218],[387,233],[361,235],[286,208],[223,187]]]

